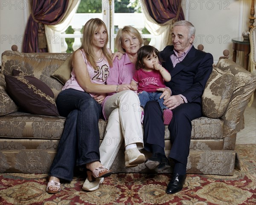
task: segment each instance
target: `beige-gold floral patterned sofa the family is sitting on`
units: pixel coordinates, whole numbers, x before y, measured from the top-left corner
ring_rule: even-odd
[[[69,72],[70,60],[66,60],[69,56],[3,52],[0,72],[0,172],[47,173],[65,122],[64,117],[20,111],[6,91],[4,74],[12,75],[13,69],[19,69],[33,75],[46,83],[56,97],[63,84],[51,75],[60,66],[62,69],[67,66]],[[235,152],[236,134],[244,128],[243,114],[255,91],[256,77],[227,58],[220,58],[215,67],[203,95],[204,117],[192,121],[187,173],[233,175],[236,166],[239,168]],[[99,121],[101,139],[106,123]],[[168,155],[171,144],[167,126],[165,140]],[[150,153],[143,152],[150,156]],[[111,169],[114,172],[149,172],[144,164],[125,168],[124,146]]]

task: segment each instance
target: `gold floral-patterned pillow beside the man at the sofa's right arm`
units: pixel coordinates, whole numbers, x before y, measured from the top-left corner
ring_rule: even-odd
[[[205,117],[219,118],[227,109],[235,88],[233,74],[213,68],[202,96],[202,111]]]

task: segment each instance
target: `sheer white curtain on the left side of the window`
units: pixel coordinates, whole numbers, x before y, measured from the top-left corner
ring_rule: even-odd
[[[81,0],[69,0],[67,11],[61,19],[60,23],[57,25],[44,25],[45,35],[47,39],[47,46],[49,53],[56,53],[60,51],[61,48],[61,32],[65,31],[70,25],[70,22],[76,13]]]

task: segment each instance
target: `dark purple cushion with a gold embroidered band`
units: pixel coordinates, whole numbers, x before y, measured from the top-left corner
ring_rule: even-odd
[[[58,116],[52,90],[41,80],[13,70],[14,76],[5,75],[6,90],[22,110],[32,114]]]

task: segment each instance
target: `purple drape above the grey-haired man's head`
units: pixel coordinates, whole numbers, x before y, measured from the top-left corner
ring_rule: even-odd
[[[183,10],[179,5],[181,0],[144,0],[148,14],[158,23],[163,24],[167,21],[176,18],[176,20],[185,20]]]

